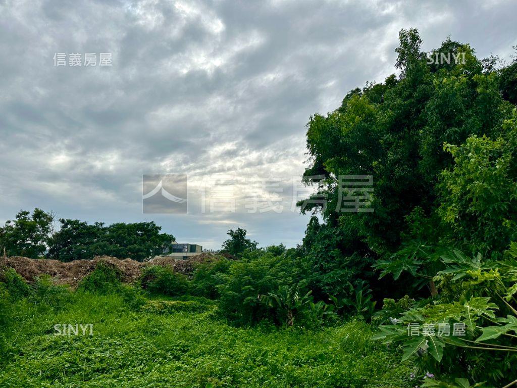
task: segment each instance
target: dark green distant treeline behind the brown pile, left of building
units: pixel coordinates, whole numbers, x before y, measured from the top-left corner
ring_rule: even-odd
[[[174,241],[174,236],[161,233],[154,221],[106,226],[103,222],[61,218],[58,231],[53,231],[53,221],[52,214],[39,208],[32,214],[20,211],[16,219],[0,228],[0,247],[7,256],[34,259],[71,261],[108,255],[142,261],[159,255]]]

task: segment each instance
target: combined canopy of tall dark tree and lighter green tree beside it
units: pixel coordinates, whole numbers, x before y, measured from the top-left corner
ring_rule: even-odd
[[[421,43],[416,29],[402,30],[399,77],[353,89],[338,109],[310,118],[304,177],[317,193],[298,205],[323,220],[311,220],[303,242],[317,271],[389,257],[418,235],[482,252],[510,243],[515,83],[502,74],[515,63],[498,68],[450,38],[429,56],[452,53],[452,62],[429,63]],[[336,211],[345,175],[373,177],[372,213]]]

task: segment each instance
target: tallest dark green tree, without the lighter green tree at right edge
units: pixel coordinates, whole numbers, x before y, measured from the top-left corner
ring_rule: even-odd
[[[444,143],[503,136],[502,124],[513,106],[505,99],[512,84],[501,82],[501,73],[512,70],[496,69],[493,61],[478,59],[468,44],[450,38],[429,55],[421,42],[415,29],[402,30],[399,77],[356,88],[335,111],[310,118],[305,178],[317,192],[299,206],[322,219],[317,230],[308,228],[303,244],[308,263],[322,276],[340,266],[346,266],[342,272],[350,271],[352,265],[357,276],[368,278],[353,257],[366,262],[390,257],[414,238],[415,214],[419,226],[425,225],[419,233],[427,240],[461,243],[457,231],[437,214],[446,180],[442,171],[458,161]],[[452,61],[429,63],[428,56],[440,58],[442,53]],[[340,176],[345,175],[373,176],[373,212],[337,211],[344,194]],[[351,258],[355,264],[349,264]]]

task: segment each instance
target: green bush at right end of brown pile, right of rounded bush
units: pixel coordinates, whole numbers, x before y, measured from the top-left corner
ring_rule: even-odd
[[[190,283],[190,293],[194,296],[204,296],[208,299],[218,299],[217,286],[223,283],[222,274],[230,270],[230,261],[223,259],[215,263],[200,263],[194,271]]]

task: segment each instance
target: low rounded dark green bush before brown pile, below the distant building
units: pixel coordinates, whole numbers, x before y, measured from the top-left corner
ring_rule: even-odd
[[[185,295],[189,288],[185,275],[174,272],[171,267],[159,265],[144,268],[140,283],[144,290],[152,294],[169,296]]]

